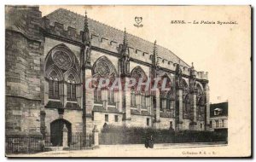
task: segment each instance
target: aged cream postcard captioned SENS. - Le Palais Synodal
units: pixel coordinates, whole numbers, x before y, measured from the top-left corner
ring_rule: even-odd
[[[250,6],[5,6],[7,157],[250,157]]]

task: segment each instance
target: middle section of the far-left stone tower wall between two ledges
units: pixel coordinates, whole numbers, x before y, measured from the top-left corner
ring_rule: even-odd
[[[42,47],[18,32],[6,32],[6,95],[40,99]]]

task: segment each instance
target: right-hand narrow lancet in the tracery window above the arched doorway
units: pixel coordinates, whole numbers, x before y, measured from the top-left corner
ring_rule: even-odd
[[[67,78],[67,101],[76,101],[76,83],[73,75],[69,75]]]

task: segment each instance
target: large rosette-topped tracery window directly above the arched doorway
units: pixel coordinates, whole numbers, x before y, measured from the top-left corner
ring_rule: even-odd
[[[63,108],[81,107],[79,67],[77,57],[65,44],[58,44],[50,49],[44,64],[45,87],[49,88],[48,93],[47,89],[45,91],[48,94],[45,101],[57,99]],[[75,102],[67,104],[70,101]]]

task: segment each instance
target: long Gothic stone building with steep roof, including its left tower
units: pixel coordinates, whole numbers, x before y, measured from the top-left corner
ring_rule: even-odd
[[[171,50],[75,14],[6,7],[6,133],[69,136],[94,125],[207,130],[207,72]],[[86,78],[166,78],[171,90],[85,90]],[[96,81],[93,84],[97,87]]]

